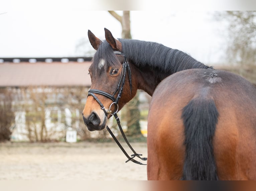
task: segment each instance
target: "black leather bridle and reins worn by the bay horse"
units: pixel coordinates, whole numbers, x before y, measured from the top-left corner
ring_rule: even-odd
[[[129,75],[130,91],[132,91],[132,82],[131,82],[132,80],[131,80],[131,70],[130,70],[130,66],[129,66],[129,63],[127,62],[127,60],[126,60],[124,54],[123,54],[122,52],[120,52],[120,51],[114,51],[114,54],[116,54],[116,55],[121,55],[121,56],[124,57],[124,62],[123,62],[123,65],[122,65],[122,66],[123,66],[123,69],[122,69],[122,73],[121,73],[121,78],[120,78],[120,81],[119,81],[119,84],[118,84],[118,86],[117,86],[116,91],[111,95],[111,94],[109,94],[109,93],[107,93],[107,92],[104,92],[104,91],[101,91],[101,90],[91,89],[91,90],[88,91],[88,96],[91,95],[91,96],[94,97],[94,99],[99,103],[101,109],[104,111],[104,113],[105,113],[106,116],[107,116],[108,114],[111,114],[111,115],[113,115],[113,116],[115,117],[116,122],[117,122],[117,125],[118,125],[118,127],[119,127],[119,129],[120,129],[120,132],[121,132],[121,134],[122,134],[122,136],[123,136],[123,138],[124,138],[126,144],[129,146],[129,148],[132,150],[132,152],[133,152],[134,154],[132,154],[131,156],[129,156],[129,155],[127,154],[127,152],[125,151],[125,149],[122,147],[121,143],[120,143],[120,142],[117,140],[117,138],[115,137],[114,133],[110,130],[110,128],[109,128],[108,126],[107,126],[106,128],[107,128],[107,130],[109,131],[110,135],[111,135],[111,136],[113,137],[113,139],[115,140],[115,142],[117,143],[117,145],[119,146],[119,148],[123,151],[123,153],[125,154],[125,156],[128,158],[128,160],[125,161],[125,162],[132,161],[132,162],[134,162],[134,163],[136,163],[136,164],[146,165],[146,164],[143,164],[143,163],[141,163],[141,162],[139,162],[139,161],[137,161],[137,160],[134,159],[135,157],[138,157],[139,159],[141,159],[141,160],[143,160],[143,161],[147,160],[146,157],[142,158],[142,157],[141,157],[142,154],[138,154],[138,153],[132,148],[132,146],[130,145],[129,141],[127,140],[127,138],[126,138],[126,136],[125,136],[125,134],[124,134],[123,128],[122,128],[122,126],[121,126],[121,124],[120,124],[120,119],[119,119],[119,117],[117,116],[118,101],[119,101],[119,99],[120,99],[120,97],[121,97],[121,95],[122,95],[122,92],[123,92],[123,87],[124,87],[125,77],[126,77],[126,71],[128,71],[128,75]],[[118,92],[118,91],[119,91],[119,92]],[[117,97],[115,98],[114,95],[115,95],[117,92],[118,92],[118,94],[117,94]],[[111,100],[113,101],[113,102],[110,104],[109,109],[107,109],[107,110],[105,109],[104,105],[102,104],[102,102],[98,99],[98,97],[97,97],[95,94],[103,95],[103,96],[105,96],[105,97],[107,97],[107,98],[109,98],[109,99],[111,99]],[[113,113],[112,113],[112,111],[111,111],[112,105],[115,105],[115,106],[116,106],[116,109],[115,109],[115,111],[113,111]]]

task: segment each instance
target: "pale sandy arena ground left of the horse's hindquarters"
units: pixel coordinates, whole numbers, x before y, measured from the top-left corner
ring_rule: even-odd
[[[115,142],[0,143],[0,180],[147,180],[146,165],[125,160]]]

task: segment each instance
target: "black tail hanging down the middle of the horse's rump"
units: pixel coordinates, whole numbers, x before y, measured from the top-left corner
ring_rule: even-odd
[[[218,115],[213,99],[197,97],[183,108],[186,146],[183,180],[218,180],[213,152]]]

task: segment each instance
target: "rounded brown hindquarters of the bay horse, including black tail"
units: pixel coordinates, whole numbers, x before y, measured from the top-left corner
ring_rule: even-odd
[[[256,89],[238,75],[191,69],[169,76],[150,104],[148,178],[256,179],[255,115]]]

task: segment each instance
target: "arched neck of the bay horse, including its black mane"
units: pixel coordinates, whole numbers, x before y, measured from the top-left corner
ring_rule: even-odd
[[[193,68],[209,68],[188,54],[161,44],[130,39],[120,41],[127,60],[135,70],[133,78],[138,81],[138,89],[149,95],[171,74]]]

